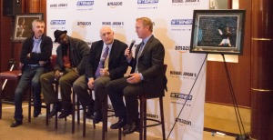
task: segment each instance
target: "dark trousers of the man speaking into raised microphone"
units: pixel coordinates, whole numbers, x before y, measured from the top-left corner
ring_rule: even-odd
[[[126,122],[132,123],[138,119],[137,97],[142,95],[144,83],[129,84],[126,78],[123,77],[109,82],[106,85],[106,90],[114,107],[115,115],[119,117],[126,116]],[[123,96],[126,105],[123,102]]]

